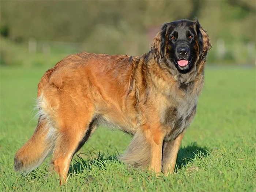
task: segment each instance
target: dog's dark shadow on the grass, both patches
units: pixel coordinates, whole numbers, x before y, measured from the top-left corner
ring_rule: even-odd
[[[193,162],[195,158],[205,158],[209,155],[209,150],[206,147],[200,147],[197,143],[192,143],[188,146],[181,147],[178,152],[176,161],[176,171],[182,167],[187,166],[188,163]],[[90,155],[92,157],[92,155]],[[82,173],[84,170],[92,170],[94,166],[99,169],[104,169],[110,162],[121,163],[118,160],[118,154],[104,154],[98,153],[93,155],[94,158],[86,158],[85,154],[76,155],[77,158],[73,158],[71,166],[69,168],[69,176]]]

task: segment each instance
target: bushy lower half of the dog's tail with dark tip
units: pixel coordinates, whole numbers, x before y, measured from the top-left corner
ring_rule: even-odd
[[[50,131],[53,128],[46,119],[39,117],[37,128],[32,137],[17,151],[14,158],[14,169],[18,172],[29,173],[37,168],[52,152],[54,138]]]

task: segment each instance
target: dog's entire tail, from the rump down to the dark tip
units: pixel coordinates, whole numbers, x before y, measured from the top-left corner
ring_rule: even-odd
[[[54,68],[46,71],[38,84],[38,124],[31,138],[15,154],[14,169],[16,171],[28,173],[37,168],[48,154],[52,152],[55,145],[55,129],[50,123],[47,114],[40,106],[42,105],[42,91],[49,82],[50,75],[54,71]]]

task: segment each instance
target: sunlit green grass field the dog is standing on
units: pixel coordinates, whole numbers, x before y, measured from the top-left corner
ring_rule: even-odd
[[[206,69],[172,176],[128,168],[116,156],[131,137],[99,128],[74,156],[61,187],[47,162],[27,176],[13,170],[16,151],[36,125],[34,99],[45,70],[0,68],[0,191],[256,191],[255,69]]]

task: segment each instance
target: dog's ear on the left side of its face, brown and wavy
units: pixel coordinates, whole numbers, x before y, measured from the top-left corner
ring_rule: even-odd
[[[153,40],[152,49],[155,50],[156,56],[161,58],[165,56],[166,28],[167,24],[165,23]]]

